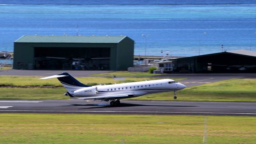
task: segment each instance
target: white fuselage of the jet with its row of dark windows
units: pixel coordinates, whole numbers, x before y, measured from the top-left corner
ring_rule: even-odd
[[[158,93],[165,91],[177,91],[186,88],[183,84],[171,79],[149,80],[142,82],[129,82],[123,84],[98,85],[88,88],[80,88],[74,91],[77,97],[94,97],[104,95],[118,95],[122,93],[134,93],[134,95],[119,97],[119,99],[128,97],[138,97],[149,93]]]

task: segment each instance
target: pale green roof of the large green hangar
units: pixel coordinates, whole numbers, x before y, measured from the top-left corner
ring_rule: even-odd
[[[119,43],[127,36],[24,35],[14,43]]]

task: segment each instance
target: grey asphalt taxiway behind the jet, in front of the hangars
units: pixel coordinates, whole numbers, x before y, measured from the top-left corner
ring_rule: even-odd
[[[60,74],[62,72],[68,72],[75,77],[86,77],[90,74],[99,74],[111,71],[99,71],[99,70],[0,70],[0,75],[9,76],[52,76]],[[221,73],[221,74],[165,74],[159,76],[151,76],[153,78],[187,78],[186,80],[180,80],[179,82],[190,86],[198,86],[201,84],[207,84],[210,82],[217,82],[221,80],[227,80],[231,78],[256,78],[254,73]],[[147,77],[145,77],[147,78]]]

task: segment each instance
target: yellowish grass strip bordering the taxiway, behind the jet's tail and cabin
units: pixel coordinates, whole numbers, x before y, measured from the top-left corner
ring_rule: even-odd
[[[43,76],[42,76],[43,77]],[[0,86],[62,86],[58,79],[38,80],[38,76],[0,76]],[[146,80],[158,80],[160,78],[125,78],[125,80],[114,80],[113,78],[102,77],[78,77],[80,82],[87,85],[114,84],[125,82],[138,82]],[[184,80],[178,78],[175,80]]]

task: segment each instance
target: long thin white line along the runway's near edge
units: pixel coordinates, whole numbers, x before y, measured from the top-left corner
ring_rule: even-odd
[[[256,113],[211,113],[211,112],[171,112],[171,111],[41,111],[41,110],[0,110],[0,111],[24,111],[24,112],[94,112],[94,113],[188,113],[188,114],[256,115]]]

